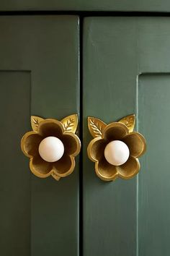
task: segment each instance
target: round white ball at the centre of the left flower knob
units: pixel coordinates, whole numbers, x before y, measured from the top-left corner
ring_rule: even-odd
[[[64,145],[57,137],[50,136],[40,142],[38,150],[42,159],[55,162],[62,158]]]

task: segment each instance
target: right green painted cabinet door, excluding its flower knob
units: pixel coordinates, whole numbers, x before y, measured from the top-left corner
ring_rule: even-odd
[[[169,256],[170,18],[87,17],[83,42],[84,120],[135,114],[147,142],[138,176],[103,182],[84,121],[84,256]]]

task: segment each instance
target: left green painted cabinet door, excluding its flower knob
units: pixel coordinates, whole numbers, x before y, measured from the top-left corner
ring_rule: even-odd
[[[0,255],[76,256],[79,167],[37,178],[20,140],[31,115],[79,114],[79,17],[4,16],[0,30]]]

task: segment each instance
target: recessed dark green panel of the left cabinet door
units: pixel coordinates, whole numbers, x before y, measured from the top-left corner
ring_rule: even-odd
[[[29,126],[30,72],[0,71],[1,255],[30,256],[30,172],[20,150]]]

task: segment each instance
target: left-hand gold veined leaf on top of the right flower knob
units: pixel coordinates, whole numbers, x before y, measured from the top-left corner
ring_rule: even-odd
[[[88,117],[89,132],[93,137],[101,137],[103,134],[104,127],[106,127],[106,125],[107,124],[105,124],[104,121],[96,117]]]

